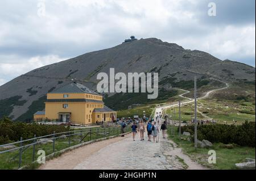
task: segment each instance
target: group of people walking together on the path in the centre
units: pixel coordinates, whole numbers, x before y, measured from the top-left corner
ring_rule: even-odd
[[[156,122],[154,120],[148,121],[146,128],[145,123],[143,120],[139,122],[137,125],[136,122],[133,122],[133,125],[131,125],[131,132],[133,132],[133,141],[135,141],[135,135],[137,132],[140,133],[141,141],[144,141],[144,133],[147,129],[147,136],[148,141],[151,141],[151,136],[153,137],[153,142],[159,142],[159,132],[163,132],[163,138],[166,138],[166,130],[167,130],[167,124],[166,121],[163,122],[163,124],[160,127],[159,131],[159,120]]]

